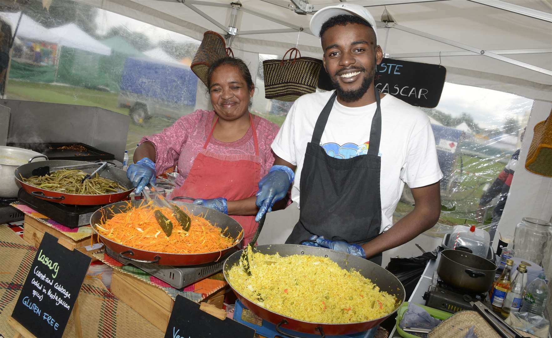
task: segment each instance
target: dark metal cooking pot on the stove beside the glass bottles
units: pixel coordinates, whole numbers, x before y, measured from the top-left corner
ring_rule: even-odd
[[[483,257],[459,250],[443,250],[437,274],[443,282],[473,293],[488,292],[497,266]]]

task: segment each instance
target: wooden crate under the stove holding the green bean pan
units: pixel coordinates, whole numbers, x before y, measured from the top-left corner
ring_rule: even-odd
[[[54,229],[51,226],[47,226],[46,224],[34,219],[29,215],[25,215],[23,225],[23,239],[26,242],[35,247],[39,247],[40,242],[42,241],[42,237],[44,237],[44,233],[49,233],[50,235],[54,235],[55,237],[57,237],[58,242],[61,245],[67,247],[67,249],[77,249],[78,251],[83,252],[83,254],[92,257],[92,261],[97,261],[97,258],[93,257],[92,254],[102,249],[100,248],[97,250],[87,251],[84,247],[90,245],[90,237],[76,241],[71,237],[63,234],[61,231]],[[97,239],[94,238],[94,236],[92,236],[92,242],[93,244],[98,242]]]

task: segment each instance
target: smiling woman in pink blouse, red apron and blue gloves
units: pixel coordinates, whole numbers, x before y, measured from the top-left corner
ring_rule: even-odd
[[[196,110],[142,138],[126,175],[140,193],[156,174],[178,165],[178,187],[169,198],[193,197],[230,215],[243,227],[246,245],[257,229],[257,183],[273,165],[270,144],[279,128],[249,112],[255,88],[242,60],[225,57],[211,65],[208,89],[214,110]]]

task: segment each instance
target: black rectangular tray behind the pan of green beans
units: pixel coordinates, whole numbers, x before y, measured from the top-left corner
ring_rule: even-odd
[[[8,143],[8,146],[18,147],[40,152],[48,156],[49,160],[75,160],[75,161],[96,161],[114,160],[115,155],[109,154],[92,146],[79,142],[44,142],[44,143]],[[59,149],[63,146],[83,146],[86,151],[71,149]]]

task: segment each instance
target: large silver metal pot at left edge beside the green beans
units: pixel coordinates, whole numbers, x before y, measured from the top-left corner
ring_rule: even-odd
[[[17,167],[30,163],[31,160],[44,161],[47,159],[40,152],[17,147],[0,146],[0,197],[17,197],[19,187],[14,175]]]

